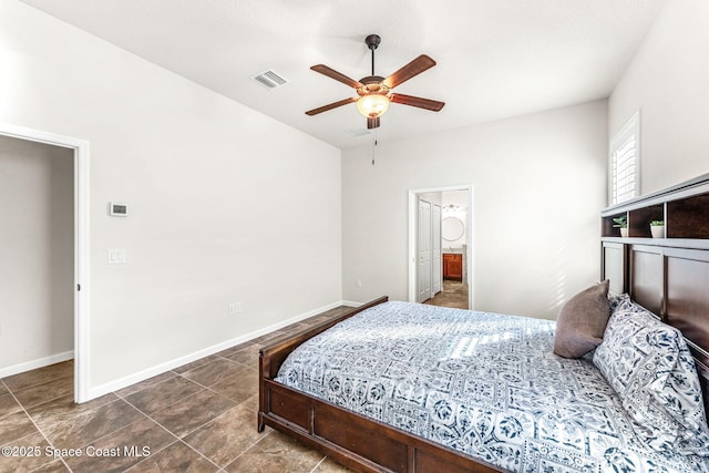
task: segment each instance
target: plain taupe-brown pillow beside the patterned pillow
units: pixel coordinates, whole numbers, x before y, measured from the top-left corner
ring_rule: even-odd
[[[609,316],[607,279],[572,297],[556,318],[554,353],[580,358],[592,351],[603,341]]]

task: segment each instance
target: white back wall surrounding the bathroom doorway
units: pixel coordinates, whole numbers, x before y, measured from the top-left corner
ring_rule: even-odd
[[[407,299],[408,191],[473,185],[475,309],[555,318],[598,279],[606,102],[342,156],[343,296]],[[357,288],[356,279],[362,280]]]

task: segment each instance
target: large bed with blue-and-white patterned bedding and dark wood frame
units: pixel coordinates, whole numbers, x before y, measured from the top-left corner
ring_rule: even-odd
[[[554,322],[382,297],[261,349],[259,430],[356,471],[709,471],[709,248],[604,238],[600,255],[614,295],[603,349],[565,359],[553,353]],[[643,345],[655,325],[667,333],[657,345],[677,351],[653,371],[697,398],[691,409],[647,394],[648,372],[630,366],[647,360],[624,337]],[[340,371],[346,359],[354,366]]]

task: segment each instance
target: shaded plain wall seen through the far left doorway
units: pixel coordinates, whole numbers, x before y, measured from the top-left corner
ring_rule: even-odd
[[[0,372],[74,349],[73,169],[70,150],[0,135]]]

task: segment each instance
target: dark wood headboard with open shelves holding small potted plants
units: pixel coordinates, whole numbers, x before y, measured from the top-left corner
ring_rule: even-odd
[[[629,237],[610,225],[620,215]],[[649,237],[657,219],[665,238]],[[629,294],[685,336],[709,415],[709,175],[604,210],[600,240],[600,276],[610,291]]]

